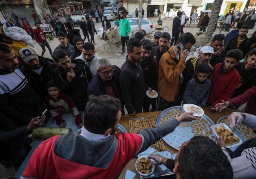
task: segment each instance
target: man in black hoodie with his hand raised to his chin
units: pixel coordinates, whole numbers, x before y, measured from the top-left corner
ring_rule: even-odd
[[[53,58],[58,65],[54,79],[61,85],[61,91],[72,98],[79,111],[84,111],[87,87],[93,78],[89,67],[79,59],[70,59],[65,50],[55,51]]]

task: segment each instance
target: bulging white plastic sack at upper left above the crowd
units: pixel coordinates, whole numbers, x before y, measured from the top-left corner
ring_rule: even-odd
[[[16,26],[7,28],[4,23],[4,35],[15,41],[23,41],[27,45],[34,47],[32,37],[22,28]]]

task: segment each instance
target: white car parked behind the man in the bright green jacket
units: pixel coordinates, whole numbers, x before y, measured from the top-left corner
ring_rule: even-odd
[[[139,18],[128,18],[127,20],[130,22],[131,32],[136,33],[137,31],[139,31]],[[141,31],[143,31],[146,35],[154,33],[155,29],[153,22],[148,20],[148,18],[142,18]],[[98,37],[100,37],[101,39],[104,38],[104,33],[105,32],[102,27],[98,29]]]

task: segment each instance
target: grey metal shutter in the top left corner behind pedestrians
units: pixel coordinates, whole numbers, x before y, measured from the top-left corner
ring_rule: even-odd
[[[32,16],[31,16],[32,11],[35,11],[34,6],[32,4],[26,4],[26,5],[4,4],[1,6],[1,9],[2,9],[4,15],[6,16],[6,18],[8,18],[8,19],[11,18],[11,11],[13,11],[13,13],[15,13],[19,19],[26,17],[26,19],[28,20],[30,25],[35,26],[35,21],[33,20]]]

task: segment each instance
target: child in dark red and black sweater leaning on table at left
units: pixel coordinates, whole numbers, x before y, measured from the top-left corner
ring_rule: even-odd
[[[83,127],[81,115],[76,108],[74,101],[67,94],[64,94],[60,91],[57,81],[48,81],[46,88],[49,93],[46,96],[46,103],[50,113],[52,114],[52,117],[56,120],[56,123],[59,125],[59,127],[66,127],[66,123],[61,118],[60,113],[70,113],[71,111],[73,111],[74,115],[76,116],[75,122],[78,128]]]

